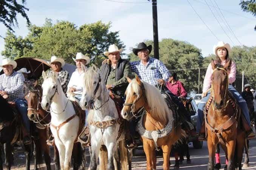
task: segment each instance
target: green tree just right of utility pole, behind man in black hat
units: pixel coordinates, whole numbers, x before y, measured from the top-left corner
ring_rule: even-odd
[[[145,41],[153,45],[153,41]],[[154,47],[153,47],[154,49]],[[154,50],[150,53],[153,57]],[[139,60],[133,53],[128,55],[130,61]],[[162,39],[159,42],[159,59],[169,70],[176,70],[179,79],[184,83],[187,91],[197,91],[198,70],[187,68],[202,67],[203,57],[201,50],[184,41]]]

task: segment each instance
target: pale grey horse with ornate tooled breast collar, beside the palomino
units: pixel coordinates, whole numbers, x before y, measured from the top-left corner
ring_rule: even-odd
[[[127,168],[127,150],[124,146],[124,135],[119,133],[121,118],[119,118],[114,101],[109,97],[105,82],[101,80],[100,70],[95,65],[86,71],[83,83],[80,106],[84,110],[89,109],[87,121],[91,134],[92,151],[90,170],[97,169],[99,154],[100,168],[114,170],[115,158],[117,169],[120,169],[121,166],[125,170]],[[120,141],[118,149],[120,157],[117,154],[117,141]],[[101,146],[103,146],[102,149]],[[108,164],[105,165],[105,162]]]

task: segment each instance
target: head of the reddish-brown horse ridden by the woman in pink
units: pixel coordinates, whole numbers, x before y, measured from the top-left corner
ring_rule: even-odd
[[[224,109],[228,91],[228,71],[227,68],[231,64],[231,59],[222,66],[211,62],[213,74],[211,75],[212,92],[214,97],[214,106],[217,109]]]

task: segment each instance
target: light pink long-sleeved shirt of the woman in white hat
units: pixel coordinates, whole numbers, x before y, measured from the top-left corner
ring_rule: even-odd
[[[221,62],[221,65],[226,64],[226,60]],[[213,74],[213,68],[211,68],[211,63],[208,65],[207,71],[204,77],[203,93],[211,88],[211,74]],[[233,83],[236,80],[236,64],[232,61],[230,66],[230,71],[228,73],[228,83]]]

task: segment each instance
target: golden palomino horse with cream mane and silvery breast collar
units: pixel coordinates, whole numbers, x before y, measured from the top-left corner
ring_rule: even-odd
[[[168,170],[171,147],[181,136],[185,136],[185,132],[180,125],[177,129],[173,128],[172,112],[157,88],[141,81],[137,76],[129,81],[122,117],[130,120],[140,116],[137,112],[145,109],[146,113],[142,115],[137,128],[147,157],[147,170],[156,169],[154,150],[158,146],[163,150],[163,169]]]

